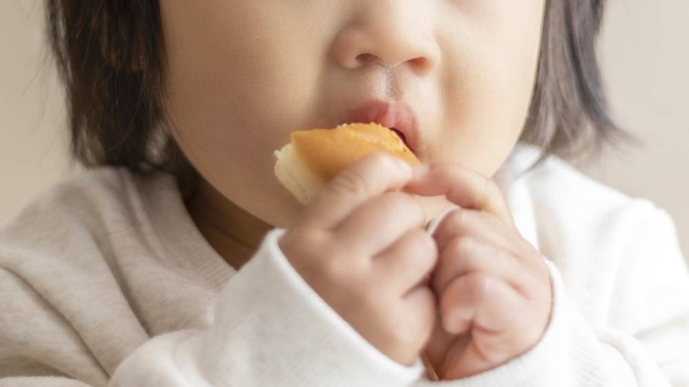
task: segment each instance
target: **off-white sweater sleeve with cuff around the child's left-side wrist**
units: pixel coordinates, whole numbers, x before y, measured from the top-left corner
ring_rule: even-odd
[[[409,386],[420,358],[403,366],[343,320],[289,264],[284,229],[225,285],[207,331],[154,337],[128,356],[110,386]]]

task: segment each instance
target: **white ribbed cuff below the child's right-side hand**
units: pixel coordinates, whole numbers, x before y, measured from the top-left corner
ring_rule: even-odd
[[[555,265],[546,263],[553,286],[553,310],[544,335],[531,350],[483,373],[435,382],[424,378],[413,387],[608,386],[608,370],[599,362],[601,344],[568,299]]]

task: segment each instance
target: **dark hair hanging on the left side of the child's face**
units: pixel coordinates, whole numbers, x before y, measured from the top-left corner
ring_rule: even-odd
[[[165,121],[165,44],[157,0],[46,0],[46,32],[67,95],[70,154],[86,167],[168,171],[198,182]]]

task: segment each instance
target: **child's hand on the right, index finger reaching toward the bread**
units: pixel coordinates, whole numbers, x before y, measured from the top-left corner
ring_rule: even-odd
[[[440,256],[431,286],[441,319],[426,355],[438,377],[488,370],[534,346],[548,324],[551,284],[542,255],[517,231],[489,178],[451,164],[419,172],[407,188],[462,207],[433,233]]]

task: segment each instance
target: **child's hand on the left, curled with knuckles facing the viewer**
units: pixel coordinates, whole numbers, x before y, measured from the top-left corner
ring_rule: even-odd
[[[331,308],[378,350],[408,366],[435,324],[435,295],[422,281],[438,258],[420,202],[394,191],[411,177],[401,160],[364,156],[313,198],[279,242]]]

